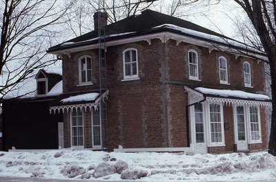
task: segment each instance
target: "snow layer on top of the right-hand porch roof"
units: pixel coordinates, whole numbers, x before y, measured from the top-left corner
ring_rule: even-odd
[[[240,90],[217,90],[211,88],[195,88],[202,94],[213,94],[221,97],[239,97],[244,99],[268,100],[269,97],[265,94],[252,94]]]

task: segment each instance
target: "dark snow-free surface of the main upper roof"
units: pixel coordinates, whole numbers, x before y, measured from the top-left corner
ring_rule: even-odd
[[[106,26],[105,34],[110,35],[110,34],[122,34],[126,32],[133,32],[132,34],[118,35],[118,37],[116,36],[109,37],[110,39],[118,39],[119,37],[120,39],[124,39],[130,36],[148,34],[153,32],[161,32],[161,31],[167,30],[168,29],[167,27],[155,28],[156,26],[161,26],[164,24],[172,24],[175,26],[179,26],[181,28],[187,28],[190,30],[195,30],[197,32],[204,32],[206,34],[212,34],[217,37],[230,39],[222,34],[219,34],[207,28],[198,26],[195,23],[191,23],[190,21],[185,21],[183,19],[171,17],[167,14],[162,14],[160,12],[155,12],[152,10],[144,10],[139,15],[133,15],[133,16],[127,17],[126,19],[122,19],[121,21],[117,21],[116,23],[112,23]],[[48,52],[52,52],[55,50],[63,50],[65,48],[77,47],[80,45],[80,44],[77,44],[78,42],[81,42],[81,45],[90,44],[91,42],[93,42],[93,40],[91,42],[88,40],[95,39],[97,37],[98,37],[97,30],[88,32],[79,37],[66,41],[66,43],[73,42],[75,43],[74,45],[70,45],[70,44],[66,45],[61,43],[59,45],[55,45],[49,48]],[[82,41],[87,41],[87,42],[83,43]],[[97,39],[94,40],[94,42],[97,43]]]

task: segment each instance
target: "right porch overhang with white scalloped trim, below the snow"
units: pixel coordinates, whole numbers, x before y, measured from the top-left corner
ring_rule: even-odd
[[[194,97],[198,97],[199,101],[202,100],[202,98],[205,98],[207,103],[237,106],[252,105],[261,107],[271,107],[270,100],[245,99],[242,97],[223,97],[215,94],[204,94],[192,88],[188,88],[187,86],[185,86],[184,89],[186,92],[188,92],[188,94],[193,94]]]

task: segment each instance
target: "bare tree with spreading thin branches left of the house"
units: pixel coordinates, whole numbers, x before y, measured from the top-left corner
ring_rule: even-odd
[[[34,70],[55,63],[57,59],[49,57],[46,49],[58,32],[54,26],[61,23],[59,19],[71,5],[61,5],[57,0],[0,2],[0,97],[32,77]]]

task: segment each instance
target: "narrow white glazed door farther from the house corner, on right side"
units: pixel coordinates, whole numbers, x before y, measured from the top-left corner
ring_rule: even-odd
[[[235,136],[237,151],[248,150],[247,125],[244,113],[244,106],[237,106],[235,112]]]

